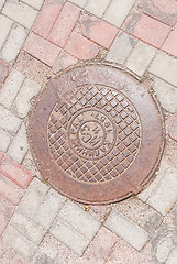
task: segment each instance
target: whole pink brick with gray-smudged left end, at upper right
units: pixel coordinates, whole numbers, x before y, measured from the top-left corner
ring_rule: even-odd
[[[135,37],[158,48],[170,32],[170,26],[140,13],[130,15],[123,29]]]

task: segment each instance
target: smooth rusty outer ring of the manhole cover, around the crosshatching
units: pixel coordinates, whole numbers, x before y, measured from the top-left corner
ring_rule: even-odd
[[[121,82],[123,84],[123,88],[120,88]],[[58,91],[63,98],[63,96],[66,95],[69,89],[73,91],[74,88],[78,89],[78,87],[85,86],[86,84],[108,86],[110,89],[117,89],[117,91],[122,92],[125,97],[128,97],[129,100],[135,105],[135,109],[140,114],[143,131],[143,146],[140,146],[140,154],[137,154],[133,161],[133,164],[128,168],[128,170],[125,170],[125,173],[119,177],[109,180],[109,183],[99,182],[97,185],[91,185],[90,183],[80,183],[78,179],[74,179],[68,176],[64,169],[57,166],[52,160],[46,139],[46,123],[49,120],[54,106],[58,101]],[[133,95],[131,91],[132,88],[136,95]],[[139,102],[139,100],[142,101]],[[146,106],[146,100],[148,106]],[[144,110],[140,110],[141,103],[147,108],[146,110],[152,108],[153,114],[151,119],[147,117],[148,121],[144,121],[142,119],[145,112]],[[150,133],[148,125],[154,125],[153,133]],[[35,128],[37,128],[37,133],[35,133]],[[147,143],[152,143],[152,140],[154,140],[155,143],[153,141],[153,144],[147,146],[147,143],[145,143],[144,140],[144,134]],[[151,84],[148,81],[137,81],[130,75],[130,73],[114,64],[95,62],[69,67],[47,82],[46,88],[44,88],[36,98],[36,102],[30,118],[27,136],[35,164],[42,173],[42,176],[53,188],[55,188],[62,195],[82,204],[107,205],[139,194],[153,177],[159,165],[159,161],[164,151],[165,125],[161,105],[152,91]],[[151,145],[154,145],[154,148]],[[147,157],[144,147],[146,147],[146,151],[148,151],[152,155]],[[147,150],[147,147],[151,150]],[[144,155],[144,160],[142,154]],[[152,161],[152,156],[154,161]],[[143,167],[141,165],[142,161],[144,162]],[[140,169],[142,169],[142,173],[140,173]],[[130,173],[130,170],[132,170],[132,173]]]

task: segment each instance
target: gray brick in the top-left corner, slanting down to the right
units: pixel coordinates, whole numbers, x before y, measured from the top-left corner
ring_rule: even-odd
[[[29,30],[32,28],[37,16],[36,10],[18,0],[8,0],[2,13]]]

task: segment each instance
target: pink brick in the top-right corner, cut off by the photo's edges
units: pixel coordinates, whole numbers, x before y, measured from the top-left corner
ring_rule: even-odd
[[[176,0],[140,0],[139,8],[146,14],[168,25],[177,22]]]

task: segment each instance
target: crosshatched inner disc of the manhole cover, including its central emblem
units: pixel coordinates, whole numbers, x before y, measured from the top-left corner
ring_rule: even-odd
[[[120,91],[87,85],[58,100],[48,119],[48,146],[68,175],[91,184],[122,175],[141,144],[141,123]]]

